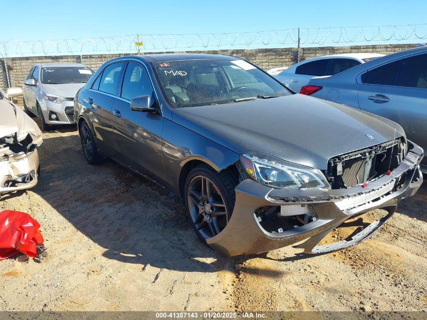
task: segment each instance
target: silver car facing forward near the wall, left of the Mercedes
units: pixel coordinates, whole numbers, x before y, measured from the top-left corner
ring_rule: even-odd
[[[38,116],[43,130],[74,123],[74,97],[93,70],[79,63],[45,63],[31,68],[24,80],[24,110]]]

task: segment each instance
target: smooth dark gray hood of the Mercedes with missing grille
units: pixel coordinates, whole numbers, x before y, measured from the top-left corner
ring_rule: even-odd
[[[175,108],[172,120],[237,153],[321,170],[330,158],[405,135],[391,120],[304,95]]]

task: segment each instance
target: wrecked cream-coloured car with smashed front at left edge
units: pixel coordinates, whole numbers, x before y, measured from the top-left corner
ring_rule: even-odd
[[[0,90],[0,193],[29,189],[40,172],[37,147],[42,143],[37,124],[8,98],[22,89]]]

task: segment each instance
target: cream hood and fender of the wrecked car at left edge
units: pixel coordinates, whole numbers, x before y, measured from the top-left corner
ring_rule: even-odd
[[[39,146],[42,143],[41,131],[37,124],[6,99],[0,100],[0,115],[0,138],[16,132],[17,140],[21,141],[29,133],[34,144]]]

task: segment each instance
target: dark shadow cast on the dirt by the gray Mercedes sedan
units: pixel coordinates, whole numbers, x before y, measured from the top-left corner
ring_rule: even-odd
[[[112,161],[89,165],[76,134],[44,139],[39,154],[41,176],[32,192],[105,248],[104,257],[141,268],[198,272],[232,268],[254,257],[226,258],[202,244],[177,197]],[[426,195],[424,183],[416,197],[402,201],[398,212],[425,221]],[[311,256],[298,253],[279,261]],[[256,257],[270,259],[266,254]]]

